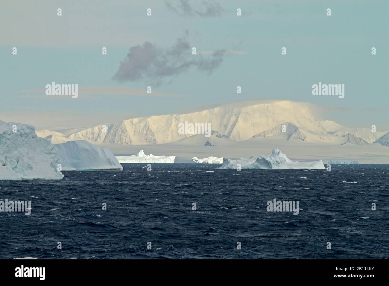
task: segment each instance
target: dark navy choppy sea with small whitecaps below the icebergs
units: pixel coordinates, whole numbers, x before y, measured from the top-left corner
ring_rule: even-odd
[[[389,258],[389,165],[218,166],[123,164],[0,181],[0,200],[32,204],[29,216],[0,212],[0,258]],[[266,211],[274,198],[299,201],[299,214]]]

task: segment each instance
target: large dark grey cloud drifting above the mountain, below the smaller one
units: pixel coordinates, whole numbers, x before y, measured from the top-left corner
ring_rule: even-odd
[[[130,47],[113,79],[119,82],[147,79],[150,84],[159,85],[163,79],[167,81],[168,77],[186,72],[192,67],[211,73],[223,61],[225,50],[215,51],[207,56],[199,52],[193,55],[187,36],[186,32],[168,49],[150,42]]]

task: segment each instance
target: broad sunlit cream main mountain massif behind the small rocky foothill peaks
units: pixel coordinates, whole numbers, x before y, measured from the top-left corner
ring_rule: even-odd
[[[326,132],[321,123],[315,119],[311,104],[307,102],[247,100],[188,114],[124,120],[107,125],[106,132],[103,132],[103,125],[99,125],[73,133],[68,139],[111,144],[163,144],[193,135],[178,133],[178,125],[185,121],[210,123],[212,130],[237,141],[250,139],[253,135],[284,122],[291,122],[305,130]]]

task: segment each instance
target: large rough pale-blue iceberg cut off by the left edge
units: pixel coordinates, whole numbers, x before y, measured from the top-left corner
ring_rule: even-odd
[[[0,180],[60,180],[58,156],[35,127],[0,120]]]

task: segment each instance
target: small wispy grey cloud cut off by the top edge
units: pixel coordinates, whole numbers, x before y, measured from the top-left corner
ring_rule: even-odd
[[[215,0],[202,1],[196,5],[199,7],[192,7],[189,0],[165,1],[165,4],[180,16],[217,17],[225,11],[220,3]]]

